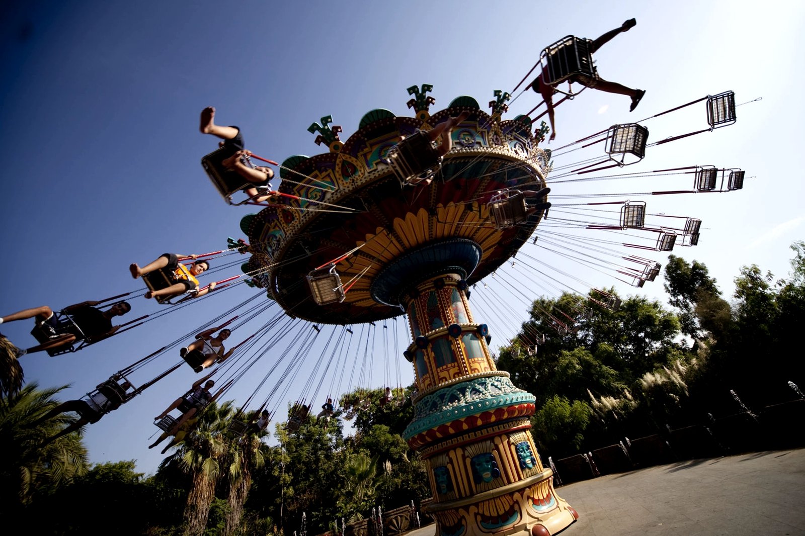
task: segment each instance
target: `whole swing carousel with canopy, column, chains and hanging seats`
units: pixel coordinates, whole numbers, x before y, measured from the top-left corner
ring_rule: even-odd
[[[541,58],[543,72],[552,69],[547,80],[557,85],[574,74],[584,74],[592,65],[589,58],[576,58],[575,63],[555,61],[561,47],[566,56],[568,50],[576,56],[583,53],[573,48],[573,39],[558,43],[569,44],[555,44]],[[242,178],[221,167],[221,160],[228,156],[225,151],[205,156],[204,169],[229,204],[261,209],[242,218],[240,226],[246,239],[230,238],[228,249],[198,257],[234,255],[239,259],[218,269],[225,270],[242,263],[238,254],[250,254],[242,263],[243,274],[217,281],[215,294],[241,283],[258,287],[258,293],[118,371],[112,379],[125,380],[132,390],[120,403],[182,367],[185,361],[196,372],[213,366],[209,376],[215,375],[222,386],[217,392],[220,395],[256,370],[254,365],[272,349],[282,348],[272,354],[269,366],[262,367],[267,369],[265,377],[239,412],[244,421],[246,407],[258,407],[251,413],[254,418],[263,409],[275,414],[279,401],[286,399],[288,378],[300,373],[322,332],[328,339],[315,364],[305,366],[309,380],[303,391],[316,398],[326,377],[330,382],[328,393],[337,402],[338,390],[353,381],[353,377],[346,382],[344,378],[350,356],[357,364],[362,348],[361,374],[371,367],[368,341],[373,338],[374,348],[374,336],[382,323],[386,358],[389,347],[392,353],[402,351],[415,374],[415,395],[411,398],[415,417],[404,438],[427,465],[433,497],[428,510],[436,519],[437,534],[530,530],[540,536],[555,534],[572,524],[578,514],[556,495],[551,468],[543,466],[530,434],[535,397],[514,386],[509,373],[496,368],[489,344],[493,334],[503,330],[493,323],[517,325],[520,320],[508,307],[499,307],[493,297],[488,297],[487,281],[496,274],[504,275],[497,279],[504,280],[526,305],[536,298],[526,292],[535,288],[530,284],[516,286],[512,281],[573,289],[578,279],[543,261],[543,252],[549,250],[642,287],[654,281],[661,266],[650,258],[625,254],[624,249],[638,249],[647,255],[696,245],[701,221],[692,216],[650,213],[646,201],[639,198],[739,190],[744,171],[680,166],[613,174],[641,162],[647,148],[735,122],[732,92],[708,95],[639,122],[614,125],[551,151],[539,146],[547,126],[544,122],[537,125],[541,115],[530,118],[535,110],[504,118],[516,100],[511,94],[520,85],[510,93],[495,91],[489,112],[473,97],[460,96],[432,113],[436,99],[429,93],[433,88],[412,86],[407,89],[411,117],[399,117],[386,109],[370,110],[343,141],[341,126],[333,126],[330,116],[321,118],[308,130],[316,134],[317,145],[327,147],[326,152],[293,155],[281,164],[257,155],[245,159],[246,163],[261,159],[279,167],[281,183],[276,191],[262,190],[242,202],[233,201],[233,195],[242,190]],[[570,93],[567,98],[572,97]],[[706,128],[648,143],[649,130],[643,123],[700,102],[707,111]],[[444,137],[449,137],[444,154],[427,137],[429,132],[440,133],[441,147],[445,147]],[[574,159],[576,150],[591,156]],[[676,181],[678,185],[666,190],[642,188],[622,195],[562,192],[568,183],[646,178]],[[266,199],[258,200],[260,196]],[[625,235],[627,241],[622,237],[608,240],[611,235],[604,233]],[[147,279],[151,291],[171,283],[170,274],[163,275]],[[588,295],[588,304],[614,309],[620,303],[617,295],[603,288],[585,288],[593,289],[580,293]],[[493,317],[488,320],[491,328],[471,310],[470,296],[476,292],[481,298],[479,309]],[[260,300],[262,295],[269,300]],[[161,301],[172,303],[168,309],[175,310],[191,305],[190,298],[192,295]],[[584,304],[580,307],[583,309]],[[567,312],[537,310],[537,314],[543,315],[559,335],[573,329],[575,319]],[[398,333],[397,324],[391,330],[387,324],[403,315],[411,340],[406,347],[398,344],[402,342],[398,338],[405,335]],[[254,334],[215,363],[204,363],[204,355],[198,352],[186,352],[183,361],[142,386],[134,387],[129,380],[131,374],[170,348],[184,344],[183,340],[195,332],[220,332],[223,328],[237,332],[251,320],[264,318],[265,323]],[[153,318],[141,317],[132,323],[148,320]],[[355,336],[358,330],[360,335]],[[393,344],[389,332],[393,332]],[[531,336],[539,345],[546,334]],[[70,346],[68,350],[77,348]],[[270,380],[275,381],[274,386],[266,389]],[[387,374],[387,385],[393,383]],[[264,394],[262,401],[260,393]],[[186,398],[192,394],[188,392]],[[304,398],[297,400],[289,410],[290,431],[303,420],[299,409],[308,411]],[[184,412],[187,407],[179,409]],[[349,418],[357,409],[344,407],[342,414]],[[179,423],[169,417],[157,424],[163,431],[175,432]],[[233,431],[245,431],[246,426],[237,422]]]

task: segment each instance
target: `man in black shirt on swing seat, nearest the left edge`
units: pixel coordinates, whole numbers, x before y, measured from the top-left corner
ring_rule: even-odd
[[[58,314],[47,305],[24,309],[0,317],[0,324],[35,318],[36,327],[31,334],[43,344],[28,348],[27,352],[57,349],[76,340],[94,343],[117,332],[120,326],[113,326],[112,319],[131,311],[131,306],[126,302],[115,303],[106,311],[95,308],[99,303],[93,301],[76,303],[64,307]]]

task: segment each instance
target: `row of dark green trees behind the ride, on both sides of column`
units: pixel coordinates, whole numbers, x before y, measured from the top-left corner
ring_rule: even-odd
[[[700,262],[673,255],[664,287],[674,311],[639,296],[605,307],[605,295],[538,299],[497,366],[537,398],[532,432],[543,460],[572,456],[667,427],[706,423],[741,408],[795,398],[805,384],[795,340],[805,318],[805,243],[792,245],[787,279],[743,267],[731,301]],[[611,289],[610,294],[614,294]],[[556,329],[556,318],[573,319]],[[541,335],[545,335],[544,341]],[[345,435],[343,414],[308,416],[298,430],[234,434],[231,402],[213,402],[151,476],[134,461],[89,467],[79,434],[43,446],[69,423],[60,389],[35,384],[0,399],[0,513],[34,534],[308,534],[429,497],[423,464],[401,433],[411,390],[369,401]],[[246,418],[250,418],[247,415]],[[7,517],[13,516],[13,517]]]

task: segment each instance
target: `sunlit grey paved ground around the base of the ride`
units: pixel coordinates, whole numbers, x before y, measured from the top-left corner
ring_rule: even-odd
[[[556,493],[580,516],[562,536],[805,536],[805,449],[657,465]]]

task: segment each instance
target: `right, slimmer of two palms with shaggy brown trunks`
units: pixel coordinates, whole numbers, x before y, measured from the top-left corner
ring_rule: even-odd
[[[261,439],[266,431],[248,431],[245,435],[229,437],[229,512],[226,514],[224,534],[233,534],[241,523],[243,505],[251,488],[252,470],[265,464]]]

